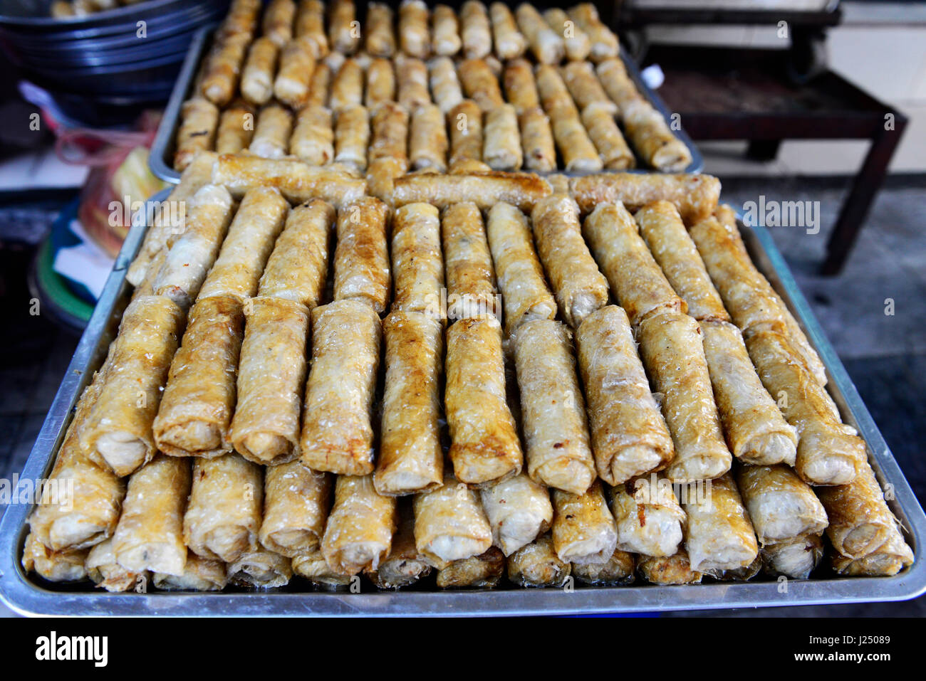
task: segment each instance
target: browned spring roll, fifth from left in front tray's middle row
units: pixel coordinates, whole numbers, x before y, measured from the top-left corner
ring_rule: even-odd
[[[439,426],[444,329],[439,319],[395,308],[382,326],[386,388],[373,481],[380,494],[390,496],[433,489],[444,479]]]

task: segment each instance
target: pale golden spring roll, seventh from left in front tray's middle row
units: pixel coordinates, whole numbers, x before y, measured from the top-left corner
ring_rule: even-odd
[[[569,330],[557,321],[524,322],[511,337],[520,388],[529,475],[582,494],[595,477]]]

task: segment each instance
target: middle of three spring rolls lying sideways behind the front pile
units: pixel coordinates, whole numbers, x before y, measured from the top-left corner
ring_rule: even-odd
[[[425,201],[445,208],[471,201],[481,210],[505,202],[522,211],[532,209],[551,193],[543,178],[531,173],[474,171],[458,175],[406,175],[396,178],[393,201],[396,206]]]

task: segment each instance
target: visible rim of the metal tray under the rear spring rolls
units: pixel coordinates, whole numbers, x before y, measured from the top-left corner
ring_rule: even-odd
[[[155,141],[151,144],[151,154],[148,156],[148,165],[151,167],[151,172],[161,180],[174,183],[180,181],[180,172],[174,170],[173,167],[173,155],[175,142],[177,140],[177,130],[180,128],[181,123],[181,108],[193,87],[196,71],[199,68],[203,55],[206,54],[206,47],[209,44],[212,31],[214,30],[214,25],[206,26],[202,30],[197,31],[194,35],[193,43],[190,44],[190,51],[187,53],[186,60],[183,62],[183,68],[181,68],[180,75],[177,77],[177,81],[174,84],[173,92],[170,93],[167,108],[164,109],[164,116],[161,118],[161,123],[157,128]],[[657,108],[658,112],[662,114],[662,118],[669,123],[671,120],[671,113],[665,102],[644,83],[640,76],[640,70],[637,68],[636,64],[633,63],[632,58],[624,51],[623,47],[620,48],[620,56],[624,61],[624,65],[627,67],[627,75],[631,77],[637,90],[644,95],[647,102]],[[688,133],[683,129],[672,130],[672,132],[686,147],[688,147],[688,152],[692,155],[692,162],[684,169],[684,172],[701,172],[704,168],[704,158],[701,156],[701,152],[697,147],[694,146],[694,142],[692,142],[691,138],[688,137]],[[638,158],[637,161],[639,160]],[[651,173],[658,171],[651,167],[637,167],[626,171],[603,170],[602,172]],[[548,175],[553,173],[568,175],[570,177],[589,174],[564,172],[562,170],[553,170],[550,173],[537,174]]]

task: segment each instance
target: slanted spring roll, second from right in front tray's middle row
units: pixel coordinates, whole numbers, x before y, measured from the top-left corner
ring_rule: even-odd
[[[744,464],[793,466],[797,432],[758,378],[740,329],[723,321],[703,321],[700,327],[720,423],[733,456]]]

